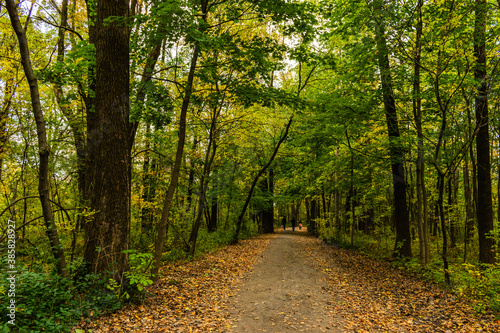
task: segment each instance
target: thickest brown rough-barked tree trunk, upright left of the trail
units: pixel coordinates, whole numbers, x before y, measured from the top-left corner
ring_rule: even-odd
[[[92,273],[127,270],[130,236],[129,38],[128,1],[97,1],[95,22],[95,110],[87,125],[86,194],[92,216],[85,223],[84,261]]]

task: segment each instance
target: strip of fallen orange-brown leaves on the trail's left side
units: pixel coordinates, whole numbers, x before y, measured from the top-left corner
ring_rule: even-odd
[[[272,237],[257,236],[200,259],[165,265],[162,279],[147,288],[143,302],[90,322],[81,320],[73,332],[228,331],[228,304],[235,288]]]

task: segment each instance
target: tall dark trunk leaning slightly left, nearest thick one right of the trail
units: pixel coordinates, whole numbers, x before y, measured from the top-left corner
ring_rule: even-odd
[[[382,15],[381,0],[374,2],[375,36],[377,42],[377,56],[380,69],[384,109],[387,120],[387,129],[390,140],[390,155],[392,159],[392,179],[394,189],[394,211],[396,225],[395,255],[411,257],[410,218],[406,204],[406,178],[403,167],[403,151],[399,146],[399,125],[396,103],[392,91],[392,78],[389,64],[389,50],[385,40],[385,25]]]

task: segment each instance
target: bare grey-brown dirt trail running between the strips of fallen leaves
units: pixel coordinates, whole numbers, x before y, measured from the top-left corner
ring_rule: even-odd
[[[232,332],[340,332],[327,276],[307,255],[311,242],[304,228],[271,241],[231,304]]]

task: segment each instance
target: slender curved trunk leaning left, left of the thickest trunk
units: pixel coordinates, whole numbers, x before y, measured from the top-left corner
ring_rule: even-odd
[[[38,91],[38,81],[33,72],[31,65],[28,39],[24,31],[17,5],[14,0],[6,0],[7,11],[9,12],[12,28],[14,29],[19,43],[21,53],[21,63],[24,68],[24,73],[30,87],[31,106],[33,108],[33,116],[36,121],[36,132],[38,138],[38,153],[40,155],[40,164],[38,168],[38,193],[40,195],[40,203],[42,205],[43,217],[45,221],[45,230],[49,238],[52,254],[57,261],[57,271],[62,276],[67,276],[66,259],[64,250],[59,241],[57,226],[54,222],[54,213],[50,205],[50,176],[49,176],[49,158],[50,148],[47,142],[47,131],[45,128],[45,119],[43,117],[42,106],[40,104],[40,94]]]

